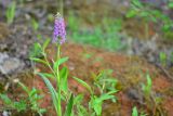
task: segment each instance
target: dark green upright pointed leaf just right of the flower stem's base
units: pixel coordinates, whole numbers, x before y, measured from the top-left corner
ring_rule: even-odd
[[[70,96],[70,99],[69,99],[69,102],[68,102],[68,104],[67,104],[67,108],[66,108],[66,112],[65,112],[65,116],[70,116],[70,115],[71,115],[72,106],[74,106],[74,95],[71,94],[71,96]]]

